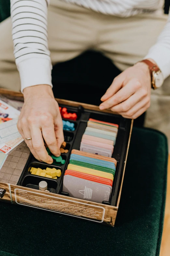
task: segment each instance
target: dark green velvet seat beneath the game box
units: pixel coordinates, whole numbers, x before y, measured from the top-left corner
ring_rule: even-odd
[[[158,256],[163,229],[167,140],[133,128],[115,227],[0,203],[0,250],[18,256]],[[10,254],[2,254],[8,256]]]

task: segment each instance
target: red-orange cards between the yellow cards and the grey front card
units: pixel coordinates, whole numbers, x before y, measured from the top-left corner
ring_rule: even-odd
[[[106,184],[112,187],[113,181],[111,179],[105,179],[105,178],[101,178],[101,177],[97,177],[94,175],[89,175],[86,173],[79,173],[76,171],[72,171],[72,170],[66,170],[64,175],[72,175],[81,179],[87,179],[87,180],[91,180],[91,181],[95,181],[95,182],[99,182],[102,184]]]

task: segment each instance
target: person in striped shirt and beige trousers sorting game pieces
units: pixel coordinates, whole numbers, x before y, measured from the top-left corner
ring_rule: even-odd
[[[0,86],[21,86],[18,129],[35,158],[52,163],[44,140],[55,156],[64,141],[52,65],[87,49],[122,71],[101,98],[101,110],[137,118],[151,102],[147,125],[170,131],[169,27],[162,0],[11,0],[11,18],[0,24]]]

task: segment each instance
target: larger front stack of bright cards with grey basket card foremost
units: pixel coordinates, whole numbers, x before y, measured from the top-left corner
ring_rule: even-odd
[[[72,150],[64,174],[63,191],[97,203],[109,201],[117,161],[114,158]]]

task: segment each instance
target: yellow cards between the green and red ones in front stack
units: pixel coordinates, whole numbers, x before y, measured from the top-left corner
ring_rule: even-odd
[[[67,169],[113,180],[113,174],[69,163]]]

